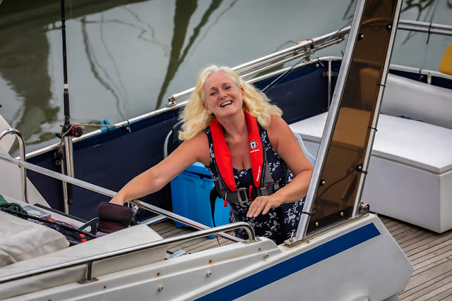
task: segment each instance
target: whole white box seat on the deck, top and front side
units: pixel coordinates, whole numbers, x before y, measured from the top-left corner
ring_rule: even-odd
[[[311,154],[319,150],[326,116],[290,125]],[[362,201],[371,211],[438,233],[451,229],[452,130],[383,114],[377,128]]]

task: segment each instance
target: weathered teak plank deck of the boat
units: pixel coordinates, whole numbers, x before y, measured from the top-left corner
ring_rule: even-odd
[[[452,230],[438,234],[387,216],[379,217],[414,266],[407,287],[398,295],[400,300],[452,300]],[[176,228],[171,220],[152,228],[163,238],[194,231]],[[170,245],[168,251],[183,249],[193,253],[230,243],[225,238],[198,238]]]

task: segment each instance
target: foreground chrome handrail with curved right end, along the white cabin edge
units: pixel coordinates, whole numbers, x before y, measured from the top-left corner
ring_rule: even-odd
[[[196,232],[191,232],[191,233],[187,233],[187,234],[183,234],[183,235],[179,235],[176,236],[174,238],[165,238],[162,240],[157,240],[157,241],[153,241],[153,242],[148,242],[142,245],[136,245],[133,247],[126,247],[124,249],[121,250],[116,250],[116,251],[112,251],[112,252],[107,252],[107,253],[102,253],[102,254],[97,254],[97,255],[93,255],[90,257],[85,257],[82,259],[75,259],[75,260],[71,260],[70,262],[64,262],[61,264],[54,264],[52,266],[46,266],[44,268],[40,268],[40,269],[35,269],[32,271],[25,271],[22,273],[18,273],[18,274],[13,274],[10,276],[4,276],[4,277],[0,277],[0,284],[1,283],[5,283],[8,281],[13,281],[13,280],[19,280],[21,278],[26,278],[26,277],[30,277],[30,276],[37,276],[40,274],[44,274],[44,273],[48,273],[51,271],[58,271],[61,269],[67,269],[67,268],[71,268],[73,266],[81,266],[83,264],[86,264],[87,267],[87,281],[90,281],[90,276],[91,276],[91,269],[93,267],[93,262],[97,262],[99,260],[103,260],[103,259],[109,259],[109,258],[113,258],[113,257],[118,257],[118,256],[122,256],[122,255],[126,255],[126,254],[131,254],[131,253],[136,253],[136,252],[141,252],[141,251],[145,251],[145,250],[150,250],[153,249],[155,247],[163,247],[165,245],[170,245],[172,243],[176,243],[176,242],[182,242],[182,241],[187,241],[187,240],[194,240],[195,238],[201,238],[204,236],[208,236],[211,234],[215,234],[217,232],[222,232],[222,231],[232,231],[235,229],[239,229],[239,228],[243,228],[245,229],[245,231],[248,233],[249,235],[249,240],[247,240],[246,242],[256,242],[258,241],[258,239],[256,239],[256,236],[254,235],[254,230],[251,226],[249,226],[248,223],[245,223],[244,221],[239,221],[237,223],[230,223],[227,225],[223,225],[223,226],[218,226],[215,228],[209,228],[206,230],[201,230],[201,231],[196,231]]]

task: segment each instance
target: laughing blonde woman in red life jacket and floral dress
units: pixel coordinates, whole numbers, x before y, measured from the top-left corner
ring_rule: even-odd
[[[111,202],[124,204],[160,190],[198,161],[208,166],[218,195],[230,202],[231,222],[246,221],[256,235],[283,242],[296,231],[312,166],[281,114],[232,69],[204,68],[181,114],[182,145]],[[244,231],[236,235],[246,238]]]

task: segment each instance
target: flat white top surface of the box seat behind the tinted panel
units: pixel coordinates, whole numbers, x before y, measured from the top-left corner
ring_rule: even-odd
[[[359,118],[360,113],[362,115],[369,113],[350,108],[343,108],[343,111],[343,113],[359,111],[351,114],[351,116],[355,116],[354,118]],[[290,125],[292,131],[302,135],[309,152],[314,156],[317,156],[327,116],[328,112],[321,113]],[[421,121],[384,114],[380,114],[377,128],[378,131],[375,134],[372,149],[373,156],[436,174],[445,173],[452,169],[452,151],[444,151],[445,149],[452,149],[452,130]],[[350,136],[353,137],[354,135]],[[348,143],[350,143],[349,138],[347,138]],[[317,145],[317,149],[309,149],[313,144]]]

